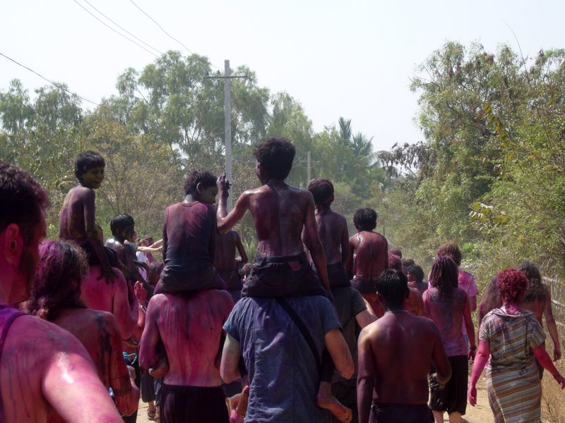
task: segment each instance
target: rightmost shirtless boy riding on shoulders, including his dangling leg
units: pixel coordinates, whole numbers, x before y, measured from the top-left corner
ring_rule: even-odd
[[[375,281],[388,269],[388,243],[376,228],[377,214],[373,209],[358,209],[353,215],[357,233],[349,238],[349,272],[352,285],[361,293],[369,313],[381,317],[383,307],[375,293]],[[354,260],[355,255],[355,260]]]

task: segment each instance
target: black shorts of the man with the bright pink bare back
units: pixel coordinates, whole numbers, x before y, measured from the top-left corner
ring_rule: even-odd
[[[161,423],[230,423],[221,386],[162,384]]]

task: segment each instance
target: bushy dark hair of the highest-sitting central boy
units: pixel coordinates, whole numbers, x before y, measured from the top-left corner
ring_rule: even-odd
[[[255,147],[255,158],[270,178],[286,179],[292,169],[296,149],[285,138],[268,138]]]

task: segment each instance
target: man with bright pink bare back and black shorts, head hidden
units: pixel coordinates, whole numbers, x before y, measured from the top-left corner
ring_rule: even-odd
[[[169,371],[160,389],[161,423],[227,423],[220,354],[222,324],[233,307],[225,290],[156,294],[149,301],[141,338],[141,367],[157,362],[161,340]]]

